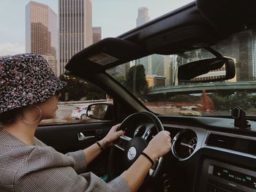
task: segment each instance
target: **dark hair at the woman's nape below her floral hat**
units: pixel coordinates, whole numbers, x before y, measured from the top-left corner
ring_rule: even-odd
[[[0,125],[10,125],[23,116],[26,107],[18,107],[7,112],[0,113]]]

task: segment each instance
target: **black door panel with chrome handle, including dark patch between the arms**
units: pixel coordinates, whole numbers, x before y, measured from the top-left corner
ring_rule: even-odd
[[[60,153],[83,150],[105,137],[113,126],[112,122],[79,123],[69,125],[39,126],[35,136],[46,145],[55,148]],[[79,140],[81,134],[86,139]],[[99,177],[107,173],[109,150],[104,150],[91,164],[88,171]]]

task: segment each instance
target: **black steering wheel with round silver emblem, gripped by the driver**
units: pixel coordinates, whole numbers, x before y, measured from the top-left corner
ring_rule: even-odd
[[[145,129],[145,132],[143,134],[139,136],[136,136],[135,134],[130,134],[131,131],[129,130],[129,128],[134,129],[135,122],[145,121],[149,121],[150,123],[140,124],[140,126],[137,128],[138,130],[140,130],[140,128],[143,127],[143,129]],[[137,158],[140,156],[140,153],[142,153],[143,150],[147,147],[148,136],[149,134],[151,134],[152,131],[157,134],[159,131],[164,130],[164,128],[159,118],[157,118],[157,116],[153,113],[136,112],[124,119],[118,130],[125,131],[125,134],[124,136],[121,136],[119,137],[119,139],[116,140],[110,150],[110,159],[108,164],[110,180],[113,180],[115,177],[121,174],[121,172],[128,169],[129,166],[131,166],[137,160]],[[133,131],[135,130],[132,130],[132,132]],[[120,155],[122,156],[121,158]],[[115,160],[117,156],[119,156],[118,164],[121,164],[124,170],[116,170],[117,162]],[[122,162],[120,162],[120,160]],[[146,180],[157,177],[162,167],[162,163],[163,158],[161,157],[154,163],[154,166],[152,166],[149,170]]]

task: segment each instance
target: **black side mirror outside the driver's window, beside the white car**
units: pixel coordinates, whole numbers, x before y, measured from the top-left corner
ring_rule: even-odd
[[[87,107],[86,115],[98,120],[113,120],[113,104],[97,103]]]

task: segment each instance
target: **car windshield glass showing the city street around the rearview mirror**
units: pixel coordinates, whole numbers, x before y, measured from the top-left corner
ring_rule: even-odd
[[[216,57],[203,48],[173,55],[148,55],[107,72],[148,110],[160,115],[230,116],[232,108],[239,106],[246,115],[255,116],[256,28],[233,34],[211,48],[233,59],[236,64],[233,79],[178,82],[178,66]],[[218,69],[214,75],[220,75],[222,70]],[[211,80],[210,75],[200,78]]]

